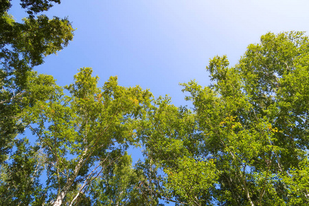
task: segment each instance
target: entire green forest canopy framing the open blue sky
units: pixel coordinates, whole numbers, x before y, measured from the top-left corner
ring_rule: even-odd
[[[264,34],[233,66],[215,56],[211,85],[181,84],[188,108],[89,67],[65,87],[34,71],[73,39],[37,15],[53,3],[21,1],[23,23],[0,4],[1,205],[309,204],[304,32]]]

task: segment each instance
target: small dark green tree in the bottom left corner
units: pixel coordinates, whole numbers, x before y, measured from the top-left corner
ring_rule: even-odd
[[[16,140],[10,163],[1,168],[1,205],[42,205],[45,194],[40,183],[44,156],[39,146],[29,146],[27,139]]]

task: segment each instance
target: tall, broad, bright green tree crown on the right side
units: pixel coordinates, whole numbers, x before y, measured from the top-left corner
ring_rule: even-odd
[[[216,159],[220,171],[214,192],[220,204],[306,203],[304,190],[287,194],[296,188],[288,179],[299,174],[291,168],[307,159],[308,52],[304,33],[268,33],[235,67],[225,56],[210,60],[211,87],[183,84],[205,137],[205,146],[196,149]]]

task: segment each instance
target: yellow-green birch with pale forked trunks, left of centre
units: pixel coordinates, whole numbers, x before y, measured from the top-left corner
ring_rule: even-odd
[[[80,69],[75,82],[65,87],[69,96],[56,85],[46,87],[49,98],[36,98],[23,115],[24,124],[46,154],[47,183],[56,190],[49,194],[49,201],[54,205],[74,203],[96,176],[124,158],[124,150],[136,142],[135,119],[150,102],[151,93],[140,87],[120,87],[116,77],[98,88],[98,77],[91,73],[90,68]],[[118,166],[113,170],[116,176]],[[126,187],[128,183],[119,184]],[[76,198],[66,198],[76,188]]]

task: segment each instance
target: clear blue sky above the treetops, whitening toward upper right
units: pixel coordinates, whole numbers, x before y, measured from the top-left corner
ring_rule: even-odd
[[[12,3],[19,21],[26,14]],[[234,65],[266,32],[308,31],[308,8],[308,0],[62,0],[47,14],[69,17],[73,42],[36,70],[65,85],[78,68],[92,67],[100,84],[117,75],[122,86],[139,84],[185,105],[179,82],[208,85],[209,58],[227,54]]]

